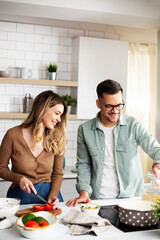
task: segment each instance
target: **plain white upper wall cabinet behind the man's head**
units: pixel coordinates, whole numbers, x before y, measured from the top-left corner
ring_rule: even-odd
[[[78,81],[77,118],[91,119],[98,112],[98,83],[113,79],[120,82],[126,92],[128,42],[78,37],[73,40],[72,52],[72,79]]]

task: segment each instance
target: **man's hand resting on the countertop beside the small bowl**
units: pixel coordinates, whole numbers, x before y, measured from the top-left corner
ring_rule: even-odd
[[[76,207],[78,203],[90,203],[91,199],[88,196],[88,192],[82,191],[80,192],[80,196],[74,199],[71,199],[67,202],[68,207]]]

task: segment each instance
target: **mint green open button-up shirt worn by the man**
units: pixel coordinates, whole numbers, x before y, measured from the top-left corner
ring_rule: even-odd
[[[105,136],[98,127],[98,115],[79,126],[77,138],[77,191],[85,190],[91,199],[98,199],[105,156]],[[114,145],[120,187],[118,198],[140,196],[143,173],[138,146],[158,162],[160,144],[137,119],[121,115],[114,128]]]

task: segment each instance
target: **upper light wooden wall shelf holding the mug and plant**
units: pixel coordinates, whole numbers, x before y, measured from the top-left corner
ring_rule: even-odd
[[[38,79],[23,79],[23,78],[3,78],[0,77],[0,83],[10,84],[30,84],[30,85],[49,85],[61,87],[78,87],[76,81],[59,81],[59,80],[38,80]]]

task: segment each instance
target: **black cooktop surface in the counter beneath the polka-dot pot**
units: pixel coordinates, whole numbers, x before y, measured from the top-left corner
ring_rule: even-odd
[[[123,224],[119,221],[119,214],[114,210],[114,208],[118,208],[117,205],[107,205],[101,206],[99,215],[102,218],[108,219],[110,223],[123,232],[135,232],[135,231],[144,231],[144,230],[152,230],[152,229],[160,229],[160,224],[150,226],[150,227],[132,227],[126,224]]]

